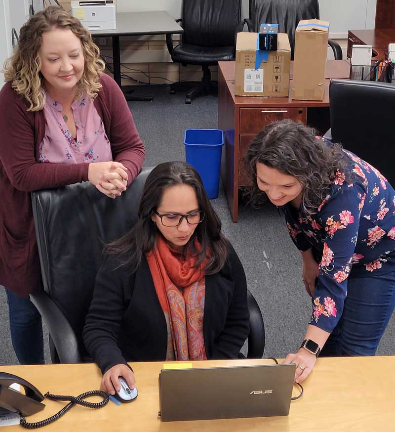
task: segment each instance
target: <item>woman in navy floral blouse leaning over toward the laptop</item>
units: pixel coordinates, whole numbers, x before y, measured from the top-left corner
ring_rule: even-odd
[[[312,297],[305,341],[284,361],[296,363],[295,380],[309,375],[319,351],[374,355],[395,306],[393,187],[355,154],[290,120],[258,133],[245,160],[252,197],[263,191],[285,214]]]

